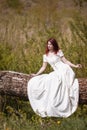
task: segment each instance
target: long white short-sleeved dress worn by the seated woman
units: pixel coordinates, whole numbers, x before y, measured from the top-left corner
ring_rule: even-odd
[[[68,117],[78,106],[79,84],[72,68],[61,61],[63,52],[43,55],[53,71],[33,77],[28,82],[28,98],[34,112],[41,117]]]

